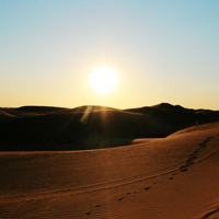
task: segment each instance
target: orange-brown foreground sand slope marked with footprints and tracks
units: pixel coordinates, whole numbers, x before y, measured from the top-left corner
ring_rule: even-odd
[[[219,218],[219,123],[134,143],[1,152],[0,218]]]

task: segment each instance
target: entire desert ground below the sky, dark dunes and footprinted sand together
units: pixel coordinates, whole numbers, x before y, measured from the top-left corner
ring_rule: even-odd
[[[219,218],[219,112],[1,108],[1,218]]]

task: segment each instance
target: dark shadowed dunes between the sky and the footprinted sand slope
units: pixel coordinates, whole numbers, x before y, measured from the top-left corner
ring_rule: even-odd
[[[161,103],[140,108],[23,106],[0,108],[0,150],[84,150],[166,137],[219,120],[219,112]]]

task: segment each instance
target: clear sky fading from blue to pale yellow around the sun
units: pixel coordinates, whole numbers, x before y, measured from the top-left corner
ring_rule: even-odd
[[[218,39],[218,0],[0,0],[0,106],[219,110]]]

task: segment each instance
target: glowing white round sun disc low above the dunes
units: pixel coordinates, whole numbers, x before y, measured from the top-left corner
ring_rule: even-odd
[[[93,91],[105,95],[113,92],[118,85],[118,74],[115,70],[102,66],[91,71],[89,83]]]

